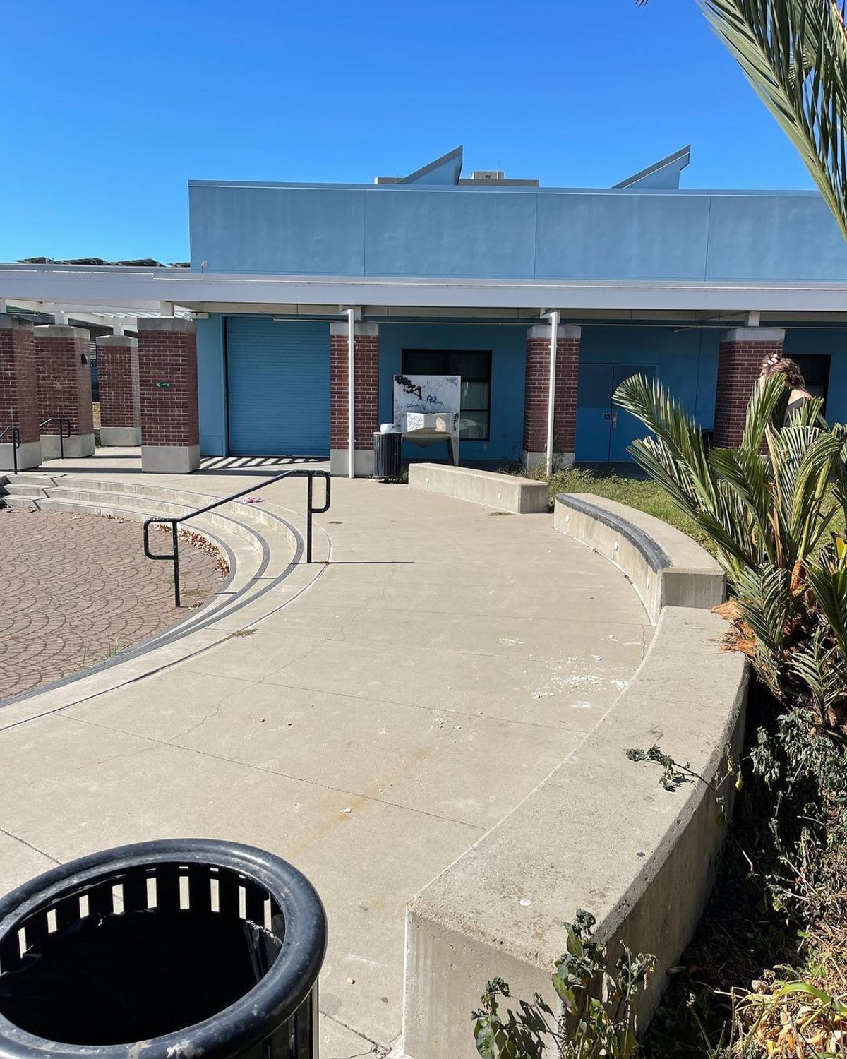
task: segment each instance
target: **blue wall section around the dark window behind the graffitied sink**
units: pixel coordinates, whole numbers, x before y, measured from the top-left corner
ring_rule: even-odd
[[[491,417],[488,442],[462,442],[462,461],[521,459],[526,324],[380,324],[379,421],[394,419],[392,377],[403,349],[490,349]],[[404,460],[447,459],[447,445],[403,445]]]

